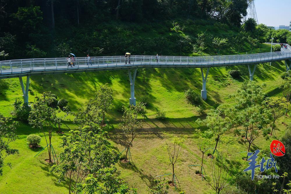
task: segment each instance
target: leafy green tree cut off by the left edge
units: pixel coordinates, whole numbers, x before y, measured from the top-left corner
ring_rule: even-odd
[[[17,122],[0,114],[0,175],[3,175],[4,159],[10,154],[19,154],[18,149],[10,148],[9,144],[16,140]],[[11,167],[11,163],[7,163]]]

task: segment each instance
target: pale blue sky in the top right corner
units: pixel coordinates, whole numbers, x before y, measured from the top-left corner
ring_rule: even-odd
[[[255,0],[259,24],[267,26],[289,26],[291,0]]]

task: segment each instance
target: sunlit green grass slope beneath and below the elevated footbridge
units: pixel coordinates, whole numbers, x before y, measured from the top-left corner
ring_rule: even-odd
[[[269,51],[269,45],[261,45],[261,51]],[[256,52],[260,52],[259,49]],[[242,78],[234,80],[228,75],[230,69],[239,69],[242,71]],[[269,95],[281,95],[281,90],[277,87],[281,84],[279,74],[285,71],[285,65],[282,62],[258,65],[254,81],[259,84],[265,83],[265,92]],[[187,193],[213,193],[212,188],[202,181],[201,177],[195,174],[199,167],[188,167],[191,164],[200,164],[201,154],[198,150],[198,138],[194,129],[205,129],[199,126],[195,121],[200,118],[196,108],[187,104],[184,99],[184,90],[193,88],[200,92],[202,88],[200,69],[147,69],[146,80],[143,83],[141,70],[135,82],[136,99],[143,95],[149,96],[147,119],[139,135],[133,142],[131,148],[132,159],[134,163],[118,163],[118,169],[121,171],[121,177],[138,189],[138,193],[146,193],[147,188],[153,186],[153,179],[156,176],[171,172],[171,166],[168,162],[168,154],[164,148],[165,140],[168,140],[166,133],[187,134],[188,139],[185,142],[181,155],[175,164],[175,172],[180,181],[182,190]],[[45,79],[42,82],[42,77]],[[236,92],[237,88],[244,80],[249,80],[247,66],[211,68],[207,79],[207,100],[205,106],[210,108],[218,103],[233,103],[228,98],[229,94]],[[12,104],[15,98],[21,98],[21,88],[19,80],[5,79],[1,83],[1,113],[8,116],[12,111]],[[52,88],[51,84],[54,84]],[[114,104],[128,104],[130,96],[129,78],[127,71],[110,72],[90,72],[75,74],[43,75],[31,76],[31,93],[29,100],[41,95],[42,92],[52,91],[58,95],[58,99],[65,98],[69,101],[69,106],[73,111],[81,107],[89,99],[100,85],[109,83],[114,91]],[[41,86],[42,84],[42,86]],[[155,119],[156,109],[166,111],[166,120]],[[121,118],[121,113],[114,108],[108,116],[110,129],[109,136],[113,147],[122,151],[124,149],[124,139],[122,133],[118,130],[117,124]],[[279,130],[276,132],[280,137],[284,133],[285,125],[282,122],[289,123],[289,118],[281,118],[277,124]],[[71,122],[64,121],[62,131],[69,135],[69,128],[74,127]],[[19,149],[19,155],[9,156],[6,162],[12,163],[12,168],[4,167],[3,176],[0,177],[0,193],[66,193],[67,186],[58,184],[54,174],[49,173],[49,165],[44,160],[47,158],[47,152],[43,151],[34,157],[41,148],[31,150],[26,144],[26,136],[29,134],[42,133],[38,129],[32,129],[29,125],[20,123],[17,129],[17,140],[11,143],[11,147]],[[233,133],[226,136],[233,137]],[[61,152],[58,148],[61,142],[61,135],[53,134],[52,144],[56,152]],[[272,139],[272,138],[271,138]],[[265,141],[260,138],[255,141],[255,148],[267,148],[271,140]],[[235,145],[239,150],[246,151],[247,145],[242,139],[235,140]],[[42,147],[45,146],[45,139],[42,138]],[[240,156],[238,156],[240,157]],[[241,161],[246,165],[245,161]],[[205,159],[206,173],[210,174],[209,159]],[[166,177],[170,180],[170,177]],[[170,188],[170,193],[175,193]]]

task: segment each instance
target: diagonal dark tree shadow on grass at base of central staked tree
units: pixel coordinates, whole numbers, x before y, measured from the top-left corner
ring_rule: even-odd
[[[119,161],[119,165],[120,167],[124,168],[124,169],[129,169],[132,170],[134,172],[139,173],[139,177],[144,181],[144,183],[149,187],[152,188],[155,185],[155,177],[153,177],[152,175],[145,175],[143,173],[143,170],[139,169],[136,167],[136,165],[133,162],[130,163],[123,163],[121,161]]]

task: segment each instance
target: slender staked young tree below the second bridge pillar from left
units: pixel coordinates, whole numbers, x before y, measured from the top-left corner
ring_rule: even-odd
[[[143,120],[139,120],[138,115],[141,114],[142,118],[145,118],[144,112],[145,104],[141,102],[137,103],[136,106],[130,105],[129,109],[123,107],[123,116],[119,125],[126,136],[125,161],[127,161],[129,147],[143,124]]]

